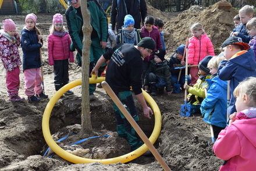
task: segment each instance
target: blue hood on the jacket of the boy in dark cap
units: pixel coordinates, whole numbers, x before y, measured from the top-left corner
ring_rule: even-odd
[[[236,63],[241,67],[245,67],[248,70],[255,70],[256,63],[253,49],[250,49],[246,53],[237,56],[236,58],[229,59],[230,62]]]

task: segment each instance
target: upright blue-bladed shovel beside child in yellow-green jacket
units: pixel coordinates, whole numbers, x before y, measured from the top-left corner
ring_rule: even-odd
[[[187,41],[189,38],[187,38]],[[187,47],[186,47],[187,48]],[[185,84],[187,84],[187,77],[188,77],[188,68],[187,68],[187,55],[188,55],[188,50],[186,49],[186,67],[185,67]],[[190,105],[187,104],[187,90],[185,90],[185,97],[184,97],[184,105],[180,106],[180,115],[181,116],[190,116]]]

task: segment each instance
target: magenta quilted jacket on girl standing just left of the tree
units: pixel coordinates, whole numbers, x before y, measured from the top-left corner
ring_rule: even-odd
[[[70,44],[69,33],[66,33],[63,37],[50,34],[48,36],[49,65],[54,65],[54,60],[69,59],[69,62],[74,62],[74,54],[69,50]]]

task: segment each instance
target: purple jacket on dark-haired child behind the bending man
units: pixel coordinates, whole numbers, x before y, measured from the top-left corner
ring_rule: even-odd
[[[162,42],[161,42],[161,35],[158,31],[158,28],[153,26],[153,30],[151,32],[148,32],[148,30],[145,29],[145,26],[141,28],[140,37],[151,37],[155,41],[155,49],[154,52],[157,51],[157,49],[162,49]],[[154,59],[154,55],[151,54],[150,56],[144,58],[146,61],[150,61]]]

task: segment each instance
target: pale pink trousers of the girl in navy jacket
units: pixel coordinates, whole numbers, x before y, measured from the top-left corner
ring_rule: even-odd
[[[25,94],[28,97],[42,92],[42,76],[40,67],[24,70]]]

